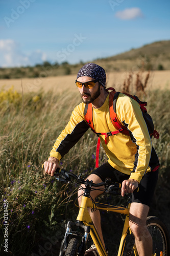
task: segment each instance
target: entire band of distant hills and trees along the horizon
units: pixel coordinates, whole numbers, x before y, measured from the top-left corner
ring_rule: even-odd
[[[89,60],[101,65],[107,72],[142,70],[170,70],[170,40],[157,41],[141,48],[117,54],[115,56]],[[61,65],[45,61],[35,67],[0,68],[0,79],[35,78],[76,74],[85,63],[70,65],[63,62]]]

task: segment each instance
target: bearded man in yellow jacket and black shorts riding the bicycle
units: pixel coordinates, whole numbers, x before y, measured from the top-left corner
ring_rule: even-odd
[[[89,129],[84,112],[87,103],[92,103],[93,126],[95,133],[115,131],[109,114],[109,93],[106,91],[105,70],[87,63],[78,72],[76,85],[83,102],[76,106],[65,129],[57,138],[50,157],[44,162],[44,169],[53,176],[61,158],[74,146]],[[94,183],[111,178],[112,182],[122,183],[122,196],[132,193],[129,225],[135,237],[135,245],[140,256],[152,256],[152,238],[146,226],[146,219],[158,179],[159,160],[152,146],[147,124],[140,105],[130,97],[120,93],[116,101],[116,114],[125,125],[129,135],[118,133],[108,137],[99,135],[107,154],[107,163],[96,168],[87,179]],[[83,185],[82,185],[83,186]],[[135,189],[139,186],[139,191]],[[135,191],[134,191],[135,190]],[[79,196],[82,191],[79,190]],[[102,194],[101,190],[91,191],[91,197]],[[79,205],[81,197],[79,197]],[[103,241],[99,211],[90,212],[93,224]],[[91,246],[85,255],[99,255]]]

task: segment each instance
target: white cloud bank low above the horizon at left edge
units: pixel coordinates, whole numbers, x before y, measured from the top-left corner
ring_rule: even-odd
[[[25,54],[14,40],[0,40],[0,67],[33,66],[42,63],[45,59],[46,55],[40,50]]]

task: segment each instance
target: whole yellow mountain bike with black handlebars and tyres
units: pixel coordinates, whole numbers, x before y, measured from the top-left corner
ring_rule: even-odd
[[[138,256],[134,236],[129,227],[130,202],[128,203],[127,207],[122,207],[94,202],[90,197],[91,190],[95,189],[95,187],[100,187],[103,185],[105,186],[105,189],[103,190],[104,193],[108,193],[110,195],[121,195],[119,191],[121,186],[120,183],[112,183],[111,179],[107,178],[105,182],[96,184],[92,181],[85,180],[81,175],[77,176],[59,168],[56,170],[55,178],[59,182],[71,183],[78,186],[79,189],[84,190],[76,222],[68,221],[66,225],[65,236],[61,242],[59,256],[84,256],[89,234],[93,240],[93,243],[98,249],[100,256],[108,255],[90,218],[88,211],[89,207],[91,210],[104,210],[125,215],[124,228],[122,231],[117,256]],[[72,178],[74,178],[76,182],[72,181]],[[85,184],[85,188],[82,188],[81,184]],[[159,218],[152,216],[148,217],[147,219],[147,227],[153,239],[152,255],[168,256],[170,252],[170,240],[165,224]],[[77,231],[77,228],[79,228],[81,232]]]

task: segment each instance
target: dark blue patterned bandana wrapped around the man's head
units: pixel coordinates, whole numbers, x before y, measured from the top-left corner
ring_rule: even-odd
[[[89,76],[98,80],[103,87],[106,87],[106,73],[105,70],[94,63],[87,63],[78,72],[77,79],[80,76]]]

